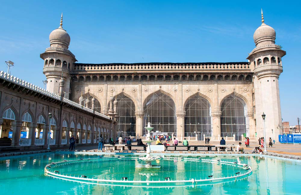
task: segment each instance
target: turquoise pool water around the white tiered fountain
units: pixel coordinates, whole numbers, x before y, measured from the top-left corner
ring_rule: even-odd
[[[60,173],[98,176],[104,179],[129,180],[164,180],[170,177],[175,180],[190,178],[224,177],[243,172],[238,167],[215,163],[200,163],[202,159],[220,159],[222,161],[237,161],[237,156],[193,156],[196,161],[182,159],[162,159],[156,162],[159,169],[137,168],[141,161],[131,159],[131,155],[104,156],[75,155],[75,154],[47,154],[23,156],[20,158],[0,158],[0,192],[1,194],[300,194],[301,175],[300,163],[283,161],[276,158],[260,156],[239,157],[241,163],[249,164],[253,173],[244,179],[232,182],[222,182],[202,186],[163,187],[156,184],[145,187],[124,187],[114,185],[95,185],[54,179],[44,175],[45,165],[63,160],[79,162],[56,167]],[[169,156],[166,156],[169,157]],[[82,158],[83,160],[80,160]],[[92,158],[91,161],[85,161]],[[266,170],[266,167],[268,168]],[[148,177],[148,178],[147,178]]]

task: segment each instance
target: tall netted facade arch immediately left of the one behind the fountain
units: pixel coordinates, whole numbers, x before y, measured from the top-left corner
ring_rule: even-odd
[[[116,96],[118,105],[117,113],[119,116],[117,129],[118,132],[126,136],[136,136],[136,115],[135,104],[131,98],[121,93]]]

